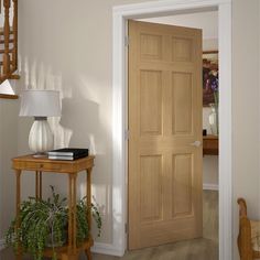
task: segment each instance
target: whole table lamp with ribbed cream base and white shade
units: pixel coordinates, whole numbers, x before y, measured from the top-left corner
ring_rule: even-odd
[[[53,149],[54,137],[47,117],[61,116],[59,93],[55,90],[25,90],[21,95],[20,117],[34,117],[29,134],[29,148],[43,156]]]

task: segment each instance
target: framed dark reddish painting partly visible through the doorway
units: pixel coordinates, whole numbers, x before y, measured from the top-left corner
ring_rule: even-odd
[[[203,106],[216,104],[218,97],[218,51],[203,52]]]

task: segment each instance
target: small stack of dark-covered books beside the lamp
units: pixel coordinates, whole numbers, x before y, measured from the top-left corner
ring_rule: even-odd
[[[88,149],[82,148],[63,148],[47,152],[51,160],[73,161],[80,158],[88,156]]]

